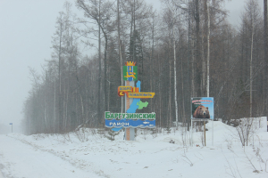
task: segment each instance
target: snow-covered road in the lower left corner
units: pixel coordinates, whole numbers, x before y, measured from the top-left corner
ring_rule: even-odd
[[[100,177],[6,135],[0,135],[0,144],[0,169],[6,178]]]

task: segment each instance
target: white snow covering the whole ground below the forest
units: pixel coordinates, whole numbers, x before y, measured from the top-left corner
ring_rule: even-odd
[[[123,141],[122,132],[110,141],[107,133],[97,134],[96,129],[0,135],[0,170],[6,178],[267,178],[266,118],[262,118],[261,128],[256,127],[254,142],[250,138],[247,147],[241,146],[234,127],[219,121],[214,122],[214,146],[212,123],[206,124],[206,147],[201,132],[194,132],[194,146],[189,146],[189,133],[183,134],[181,127],[171,134],[138,129],[133,142]]]

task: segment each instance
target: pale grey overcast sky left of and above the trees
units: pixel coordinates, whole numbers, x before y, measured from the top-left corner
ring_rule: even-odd
[[[257,0],[263,12],[263,0]],[[51,55],[51,36],[65,0],[0,0],[0,124],[20,125],[31,88],[29,67],[41,72]],[[70,0],[74,4],[73,0]],[[159,0],[146,0],[160,10]],[[225,3],[229,20],[239,25],[246,0]],[[74,5],[73,5],[74,6]],[[77,13],[77,12],[76,12]],[[80,12],[78,12],[80,13]],[[80,13],[81,14],[81,13]],[[79,14],[79,15],[80,15]],[[16,132],[16,130],[15,130]]]

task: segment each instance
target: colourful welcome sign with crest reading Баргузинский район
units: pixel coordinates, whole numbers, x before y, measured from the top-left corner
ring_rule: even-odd
[[[126,62],[123,67],[123,79],[126,81],[125,86],[118,87],[118,96],[126,97],[126,113],[105,112],[105,126],[113,127],[113,131],[119,131],[122,127],[155,127],[155,112],[152,113],[136,113],[137,109],[146,108],[148,102],[140,101],[140,99],[154,98],[155,93],[141,93],[140,81],[136,86],[134,81],[138,80],[138,69],[136,62]],[[130,83],[133,85],[131,86]],[[128,134],[128,132],[127,132]],[[128,135],[127,135],[128,140]]]

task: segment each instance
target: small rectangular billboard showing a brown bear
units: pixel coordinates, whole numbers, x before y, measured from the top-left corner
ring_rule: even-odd
[[[191,98],[191,118],[214,119],[214,97]]]

